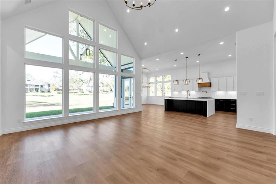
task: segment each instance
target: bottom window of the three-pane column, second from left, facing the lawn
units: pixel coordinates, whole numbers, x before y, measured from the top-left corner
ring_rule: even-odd
[[[94,73],[69,70],[69,114],[93,112]]]

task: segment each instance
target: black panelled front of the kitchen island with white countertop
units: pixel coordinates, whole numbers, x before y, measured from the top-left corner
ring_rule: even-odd
[[[207,117],[207,102],[165,99],[165,111],[202,114]]]

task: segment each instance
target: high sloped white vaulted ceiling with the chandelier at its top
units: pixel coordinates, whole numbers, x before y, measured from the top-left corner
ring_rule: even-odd
[[[140,59],[230,35],[272,21],[273,15],[272,0],[156,0],[129,13],[123,0],[106,1]]]

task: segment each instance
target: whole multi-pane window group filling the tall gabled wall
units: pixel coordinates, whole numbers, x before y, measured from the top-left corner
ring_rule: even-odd
[[[94,39],[94,21],[72,11],[67,40],[25,28],[25,58],[31,59],[25,61],[26,121],[93,116],[102,111],[135,107],[135,59],[123,51],[118,56],[116,30],[97,26],[99,44]],[[63,44],[69,50],[65,51]]]

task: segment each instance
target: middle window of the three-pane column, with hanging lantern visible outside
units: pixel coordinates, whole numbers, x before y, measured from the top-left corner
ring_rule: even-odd
[[[69,64],[93,68],[94,47],[69,40]]]

